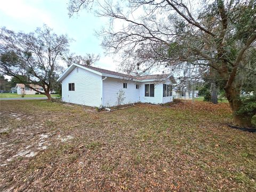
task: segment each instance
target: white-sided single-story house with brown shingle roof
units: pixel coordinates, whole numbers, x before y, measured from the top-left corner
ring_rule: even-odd
[[[62,101],[94,107],[118,105],[120,91],[124,92],[122,105],[171,102],[172,84],[176,83],[170,74],[135,77],[77,64],[57,81],[62,83]]]

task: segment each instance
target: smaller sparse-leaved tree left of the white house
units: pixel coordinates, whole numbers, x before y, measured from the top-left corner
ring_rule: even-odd
[[[69,52],[67,35],[54,34],[47,26],[28,34],[1,28],[0,42],[1,73],[51,100],[50,91],[63,72],[60,60]],[[44,92],[31,84],[42,86]]]

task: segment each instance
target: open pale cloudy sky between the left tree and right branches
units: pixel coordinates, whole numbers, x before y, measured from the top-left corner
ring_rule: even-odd
[[[118,60],[103,53],[101,39],[94,35],[107,19],[95,17],[86,10],[78,17],[69,18],[67,3],[68,0],[0,0],[0,26],[30,32],[45,23],[56,34],[67,34],[75,40],[70,45],[70,52],[100,54],[101,59],[95,66],[116,71]]]

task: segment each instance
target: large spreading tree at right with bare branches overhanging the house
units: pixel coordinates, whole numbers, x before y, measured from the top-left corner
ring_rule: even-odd
[[[99,32],[104,37],[102,45],[122,53],[122,66],[130,71],[156,66],[184,69],[189,64],[217,74],[210,78],[225,83],[234,124],[251,126],[251,116],[236,111],[243,105],[244,74],[255,71],[247,62],[255,54],[255,1],[129,0],[114,5],[70,0],[68,9],[70,16],[81,9],[94,9],[98,16],[108,17],[109,26]]]

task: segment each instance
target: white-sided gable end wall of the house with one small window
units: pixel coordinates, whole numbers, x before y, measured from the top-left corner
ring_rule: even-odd
[[[75,83],[75,91],[68,90],[68,84]],[[99,107],[101,105],[102,79],[77,67],[62,81],[62,101],[80,105]]]

